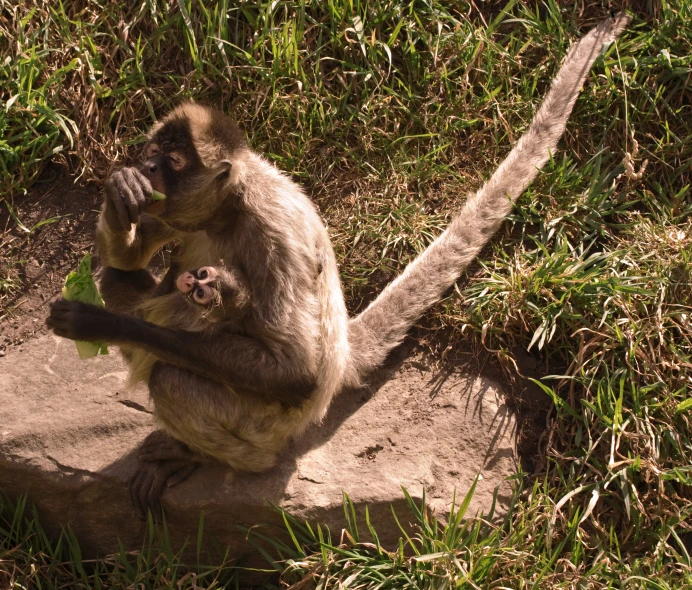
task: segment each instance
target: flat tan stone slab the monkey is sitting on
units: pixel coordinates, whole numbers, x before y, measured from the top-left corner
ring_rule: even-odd
[[[135,516],[127,481],[136,449],[153,429],[151,404],[125,379],[114,349],[80,361],[72,342],[53,335],[0,358],[0,488],[28,493],[49,530],[69,523],[88,555],[115,551],[118,538],[136,549],[147,528]],[[471,512],[487,512],[497,486],[498,510],[505,510],[514,433],[494,382],[453,369],[441,378],[403,361],[369,388],[342,394],[324,424],[293,443],[274,469],[242,474],[209,466],[167,490],[169,529],[174,542],[189,537],[194,546],[204,511],[207,538],[239,556],[252,548],[236,525],[280,522],[273,503],[338,536],[344,491],[361,513],[368,506],[387,546],[399,537],[390,505],[409,520],[402,486],[414,498],[425,489],[444,515],[455,490],[458,503],[480,473]]]

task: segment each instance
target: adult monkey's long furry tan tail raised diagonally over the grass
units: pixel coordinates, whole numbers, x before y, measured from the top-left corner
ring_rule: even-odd
[[[350,321],[352,384],[384,361],[497,231],[519,195],[555,152],[601,47],[613,42],[628,22],[624,13],[607,19],[570,49],[530,127],[495,174],[469,197],[447,230]]]

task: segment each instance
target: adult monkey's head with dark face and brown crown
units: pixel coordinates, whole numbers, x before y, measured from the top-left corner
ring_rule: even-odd
[[[141,172],[166,195],[152,211],[191,230],[215,217],[232,192],[234,163],[247,148],[242,131],[219,110],[185,103],[148,134]],[[162,205],[159,205],[162,203]]]

